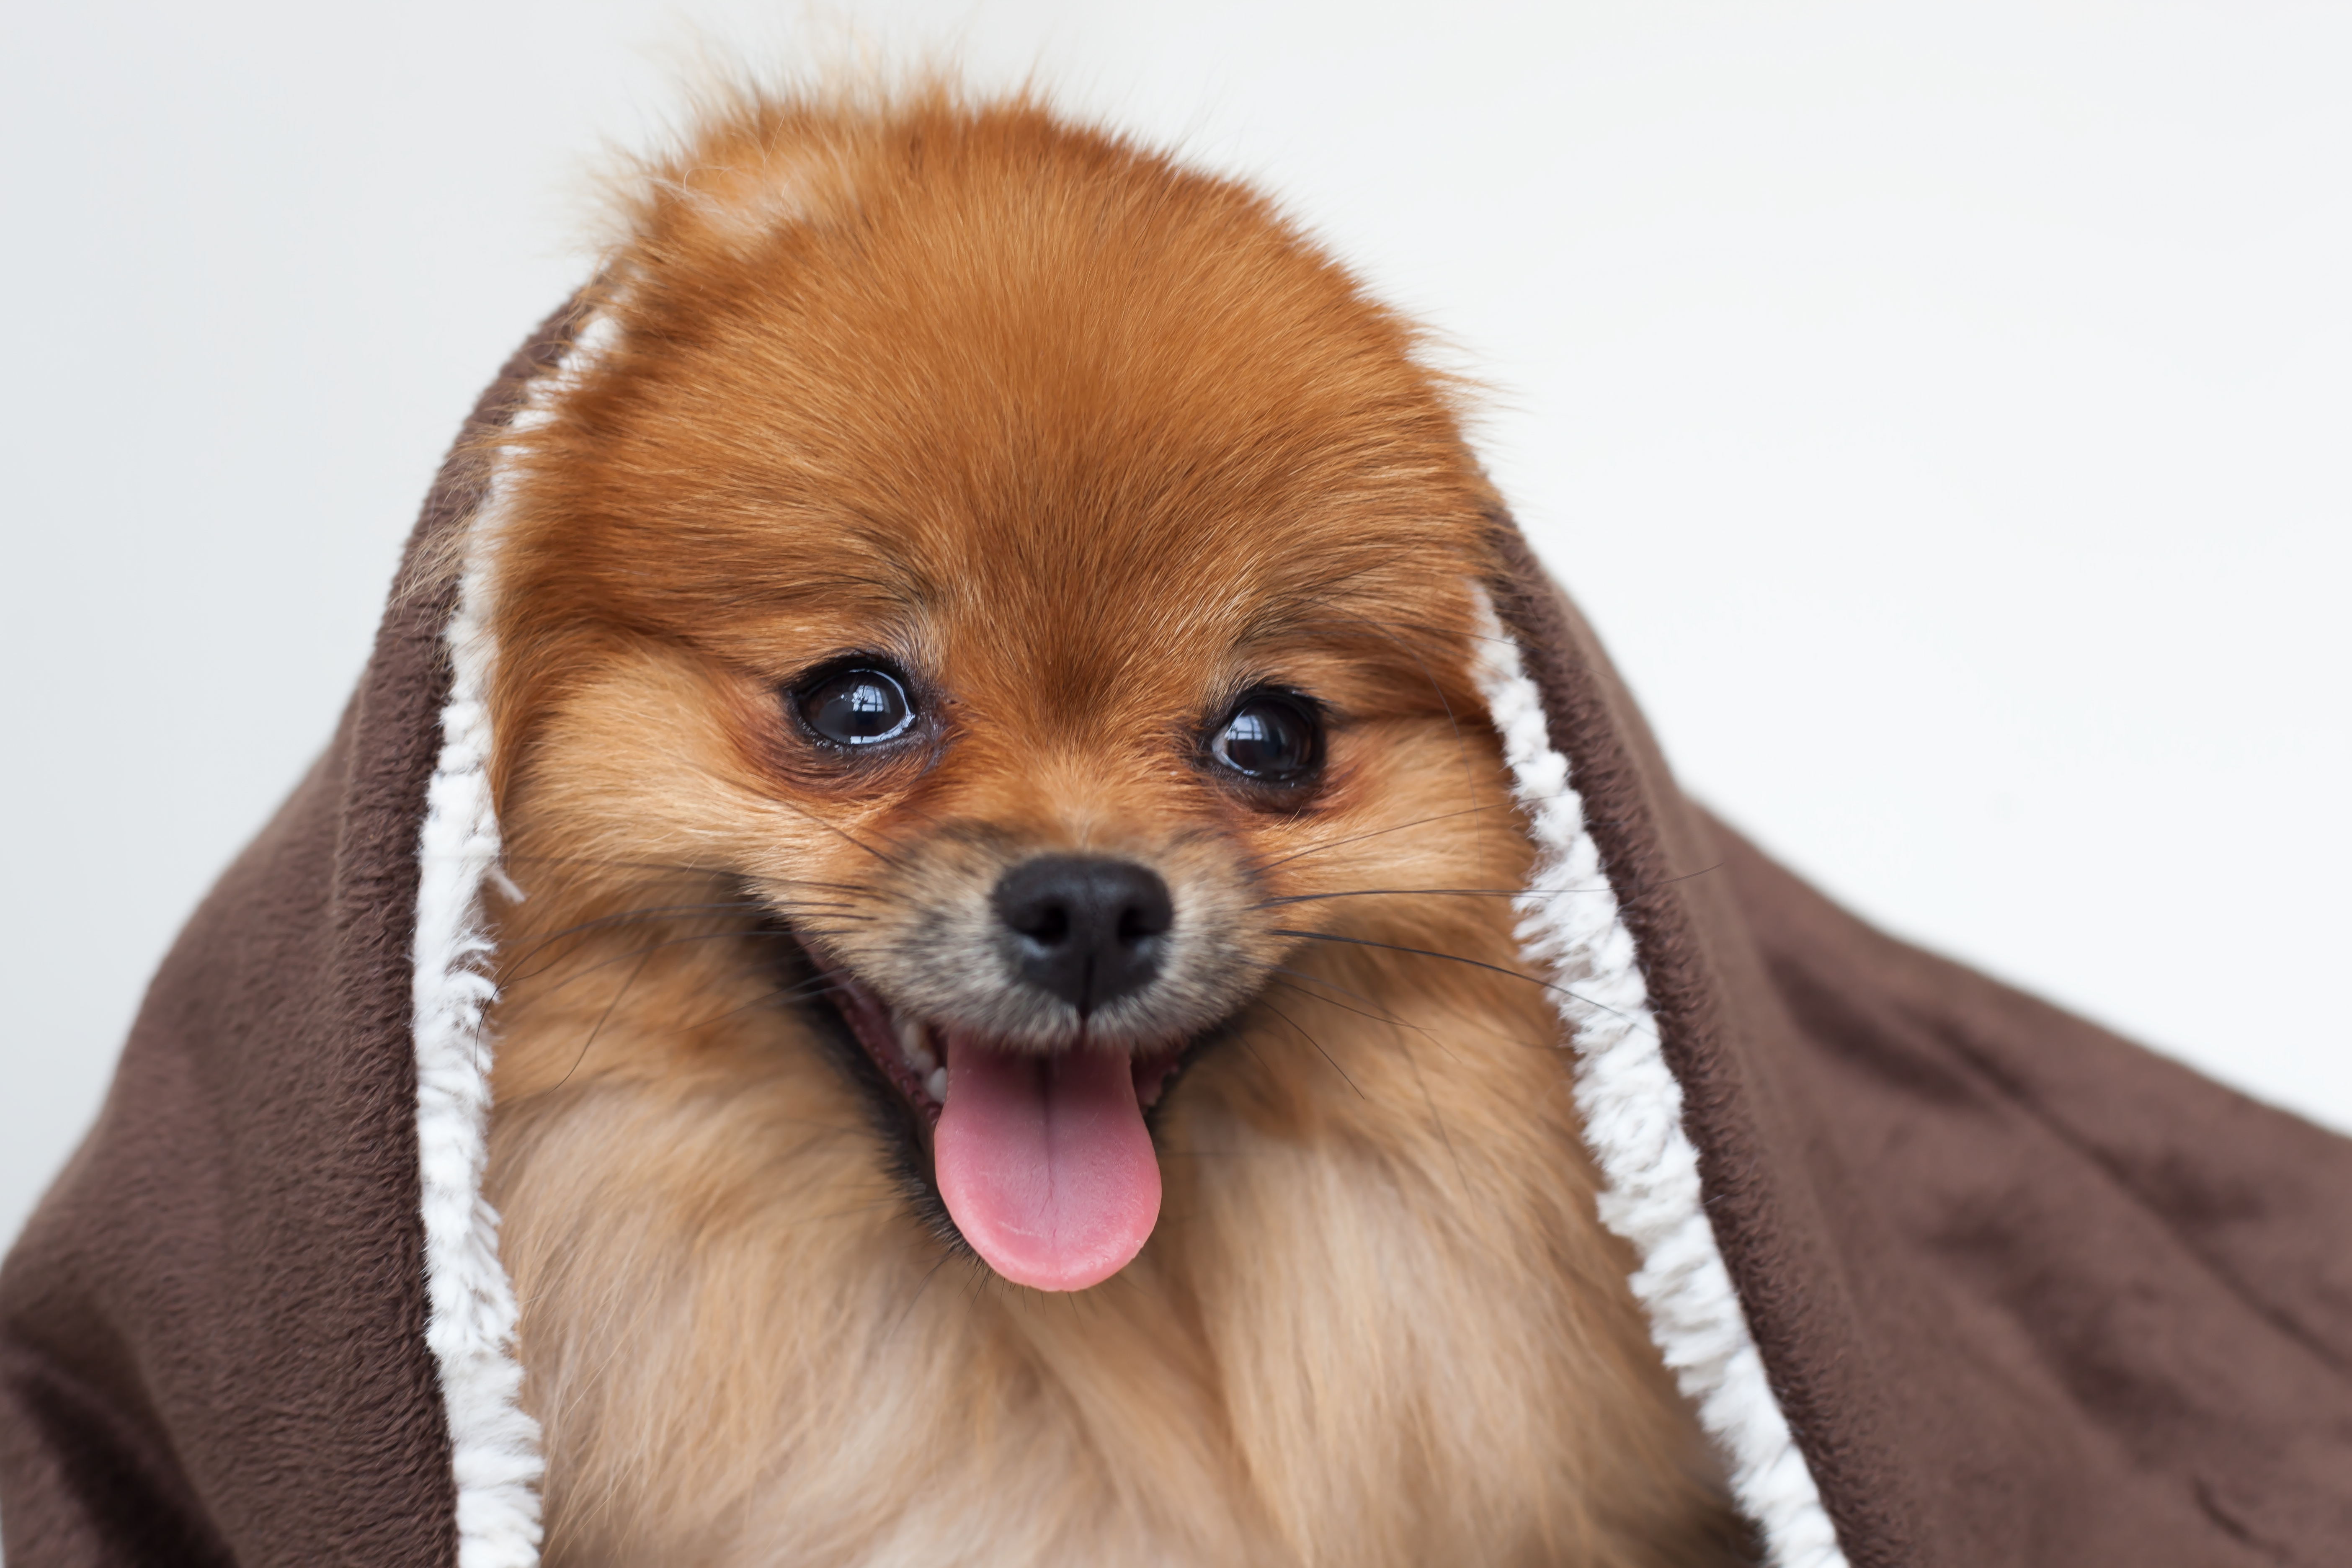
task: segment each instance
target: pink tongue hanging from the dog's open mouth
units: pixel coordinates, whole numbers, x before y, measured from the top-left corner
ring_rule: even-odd
[[[946,1048],[931,1164],[971,1251],[1040,1291],[1084,1291],[1127,1267],[1160,1220],[1160,1157],[1127,1056],[1014,1056],[960,1032]]]

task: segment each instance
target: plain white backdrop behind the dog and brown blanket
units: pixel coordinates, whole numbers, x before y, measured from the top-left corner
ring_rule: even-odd
[[[2352,9],[14,7],[0,1237],[360,672],[588,169],[953,47],[1270,186],[1684,780],[1882,924],[2352,1128]]]

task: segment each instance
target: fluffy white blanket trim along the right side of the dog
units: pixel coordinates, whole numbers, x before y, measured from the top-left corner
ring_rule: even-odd
[[[1519,952],[1550,971],[1576,1048],[1576,1107],[1602,1173],[1602,1222],[1632,1244],[1632,1293],[1649,1312],[1684,1399],[1731,1467],[1731,1493],[1764,1530],[1773,1568],[1844,1568],[1813,1472],[1788,1429],[1748,1314],[1715,1248],[1698,1150],[1682,1131],[1682,1084],[1658,1051],[1649,983],[1618,914],[1569,759],[1552,745],[1543,696],[1489,604],[1477,682],[1503,736],[1512,795],[1536,842],[1517,898]]]

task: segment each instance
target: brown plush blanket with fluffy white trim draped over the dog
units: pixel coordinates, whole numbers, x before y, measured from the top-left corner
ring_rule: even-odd
[[[496,844],[447,656],[482,489],[461,444],[334,743],[179,938],[0,1274],[14,1568],[536,1561],[477,1197],[487,980],[447,907],[487,865],[437,870]],[[1769,1559],[2352,1561],[2352,1143],[1823,900],[1677,790],[1508,545],[1479,668],[1538,842],[1526,959]]]

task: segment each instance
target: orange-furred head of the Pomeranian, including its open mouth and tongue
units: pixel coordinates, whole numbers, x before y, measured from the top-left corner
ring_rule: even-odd
[[[501,790],[771,910],[962,1237],[1091,1286],[1145,1112],[1289,954],[1430,945],[1367,893],[1491,806],[1491,498],[1409,331],[1232,186],[1028,113],[741,136],[510,454]]]

